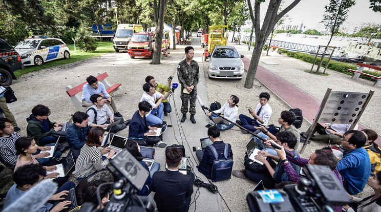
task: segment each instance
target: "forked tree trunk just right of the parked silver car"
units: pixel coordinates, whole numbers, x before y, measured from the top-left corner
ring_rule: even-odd
[[[264,0],[256,0],[254,2],[254,12],[251,7],[251,1],[247,0],[247,5],[249,6],[251,21],[254,25],[255,33],[256,33],[256,45],[252,51],[250,67],[247,72],[246,80],[245,80],[245,88],[252,88],[254,78],[256,77],[257,68],[259,59],[261,57],[262,48],[265,45],[265,42],[270,35],[274,26],[278,23],[278,21],[292,8],[298,5],[301,0],[294,0],[290,5],[288,5],[284,10],[280,11],[279,6],[281,5],[282,0],[270,0],[269,6],[266,11],[265,18],[262,23],[262,27],[260,26],[260,8],[261,3],[265,2]]]

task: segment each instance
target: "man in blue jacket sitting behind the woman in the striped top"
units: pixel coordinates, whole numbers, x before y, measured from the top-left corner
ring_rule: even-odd
[[[88,126],[89,115],[86,113],[77,111],[73,115],[73,123],[70,124],[66,132],[66,140],[70,146],[70,152],[73,154],[73,158],[76,161],[81,151],[84,142],[88,138],[90,128]]]

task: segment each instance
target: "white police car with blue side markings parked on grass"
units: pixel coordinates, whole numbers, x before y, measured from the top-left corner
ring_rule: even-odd
[[[70,58],[69,47],[64,41],[47,36],[29,36],[14,49],[20,54],[24,66],[42,66],[51,60]]]

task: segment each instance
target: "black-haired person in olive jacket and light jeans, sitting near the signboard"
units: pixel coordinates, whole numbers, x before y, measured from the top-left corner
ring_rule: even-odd
[[[293,149],[297,150],[300,143],[300,137],[298,130],[295,128],[295,126],[292,125],[295,119],[297,119],[297,117],[292,111],[282,111],[281,117],[278,119],[278,123],[282,125],[279,132],[288,131],[295,136],[295,138],[297,139],[297,143],[295,144],[295,147]],[[258,136],[265,139],[277,140],[277,137],[275,135],[272,135],[264,126],[254,126],[254,128],[262,131],[261,133],[258,133]],[[261,146],[263,146],[263,141],[257,137],[255,137],[255,139],[257,142],[258,149],[262,150]],[[274,156],[277,156],[277,152],[273,149],[273,147],[265,148],[264,150]]]

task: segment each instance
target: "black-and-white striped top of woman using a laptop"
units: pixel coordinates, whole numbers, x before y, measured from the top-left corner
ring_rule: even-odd
[[[102,161],[102,155],[96,146],[88,146],[85,143],[78,156],[77,162],[75,163],[74,176],[76,178],[87,177],[96,171],[106,168],[108,163],[109,159],[107,158]]]

